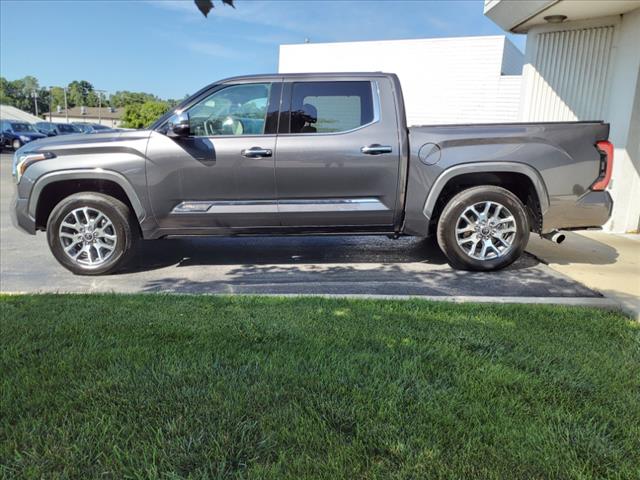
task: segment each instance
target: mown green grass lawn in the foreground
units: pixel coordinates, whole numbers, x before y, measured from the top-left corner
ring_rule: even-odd
[[[640,478],[640,325],[578,308],[0,297],[0,477]]]

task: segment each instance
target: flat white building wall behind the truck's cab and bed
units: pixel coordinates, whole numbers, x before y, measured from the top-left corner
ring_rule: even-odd
[[[501,72],[522,62],[504,36],[457,37],[281,45],[279,71],[396,73],[409,125],[435,125],[515,121],[520,76]]]

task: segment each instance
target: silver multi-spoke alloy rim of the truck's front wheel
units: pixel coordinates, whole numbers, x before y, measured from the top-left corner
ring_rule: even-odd
[[[100,210],[91,207],[69,212],[58,231],[64,253],[78,265],[95,268],[104,264],[118,243],[113,223]]]

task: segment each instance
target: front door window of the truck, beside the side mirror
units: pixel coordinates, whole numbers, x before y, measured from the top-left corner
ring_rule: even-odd
[[[262,135],[270,83],[230,85],[189,109],[191,135]]]

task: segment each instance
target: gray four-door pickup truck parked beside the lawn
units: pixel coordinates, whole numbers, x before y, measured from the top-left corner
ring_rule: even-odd
[[[407,127],[386,73],[213,83],[149,130],[37,140],[15,153],[14,217],[78,274],[139,238],[437,235],[452,266],[512,263],[530,232],[603,225],[613,147],[600,121]]]

